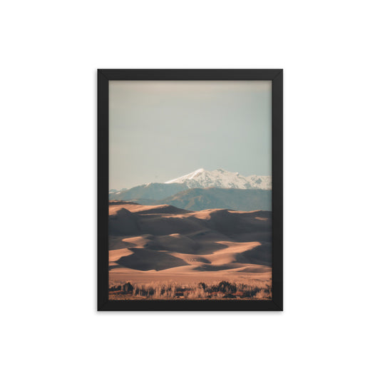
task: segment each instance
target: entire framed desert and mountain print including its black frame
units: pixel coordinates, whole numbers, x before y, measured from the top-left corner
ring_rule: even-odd
[[[282,311],[282,69],[98,70],[98,310]]]

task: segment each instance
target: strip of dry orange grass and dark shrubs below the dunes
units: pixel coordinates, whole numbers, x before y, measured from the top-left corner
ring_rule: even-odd
[[[109,299],[272,299],[272,287],[267,282],[212,282],[178,284],[150,282],[147,284],[114,284],[109,288]]]

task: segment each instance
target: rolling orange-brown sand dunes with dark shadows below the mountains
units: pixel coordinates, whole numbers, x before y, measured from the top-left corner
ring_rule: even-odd
[[[272,277],[272,212],[110,201],[110,284],[264,281]]]

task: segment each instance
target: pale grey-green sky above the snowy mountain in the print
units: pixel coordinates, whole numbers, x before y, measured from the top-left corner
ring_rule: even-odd
[[[271,81],[110,81],[110,189],[199,168],[271,175]]]

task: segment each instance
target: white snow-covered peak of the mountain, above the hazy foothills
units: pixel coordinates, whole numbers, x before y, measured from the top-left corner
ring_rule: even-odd
[[[272,177],[270,175],[244,177],[239,173],[227,172],[223,169],[211,171],[198,169],[165,183],[183,183],[188,188],[272,189]]]

